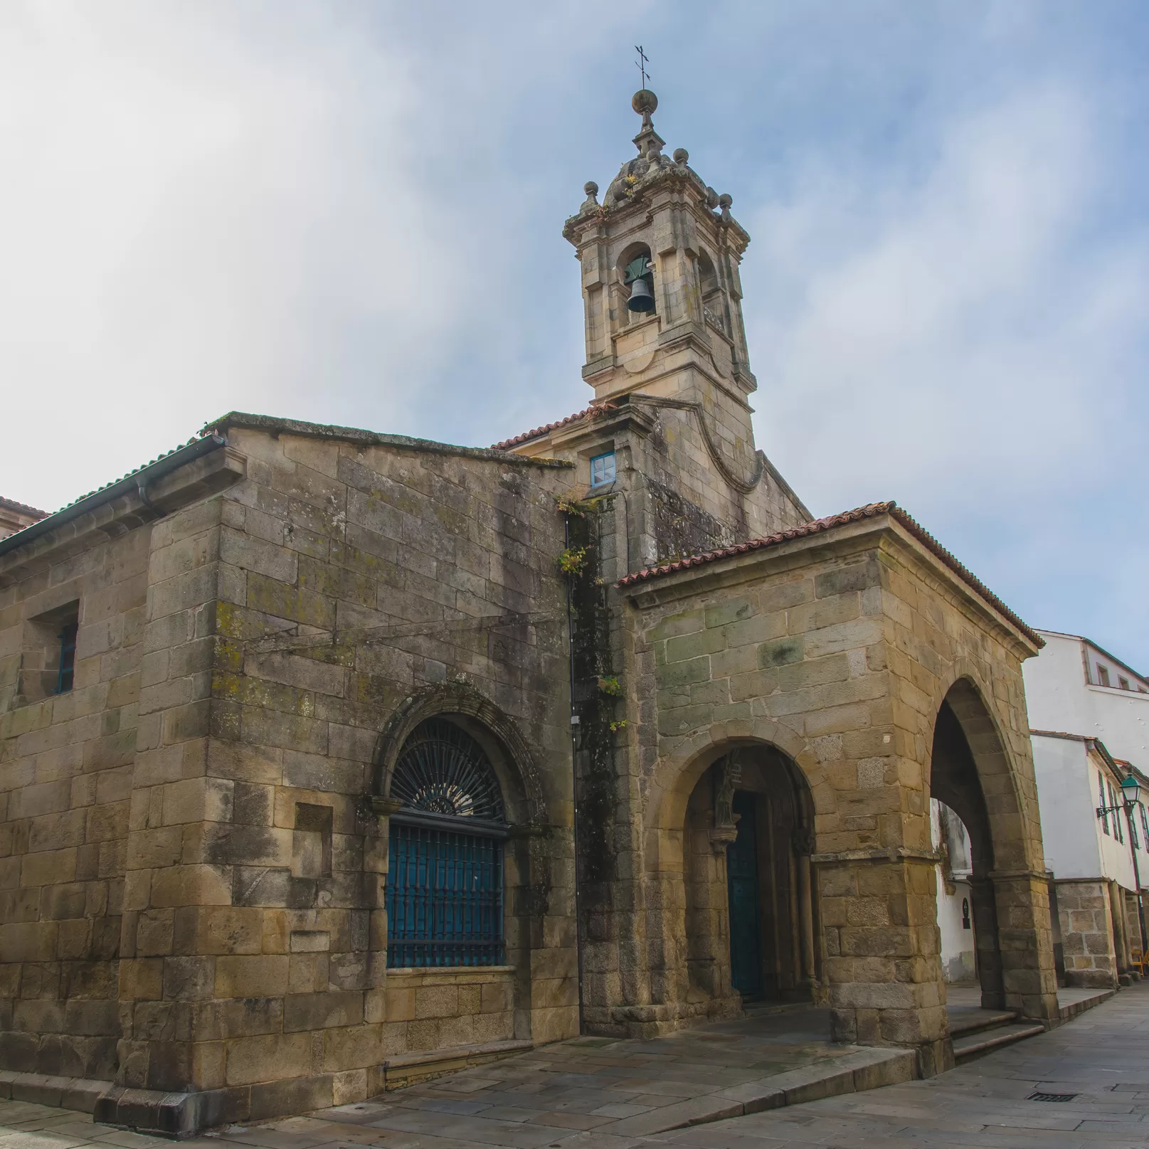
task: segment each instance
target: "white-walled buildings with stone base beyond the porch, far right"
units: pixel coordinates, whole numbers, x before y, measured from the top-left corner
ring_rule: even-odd
[[[1069,985],[1116,985],[1141,949],[1135,869],[1149,886],[1144,805],[1131,827],[1120,794],[1149,770],[1149,679],[1088,639],[1039,633],[1023,670],[1058,967]]]

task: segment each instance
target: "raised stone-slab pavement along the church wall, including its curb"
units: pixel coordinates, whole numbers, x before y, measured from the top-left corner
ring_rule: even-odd
[[[372,1101],[231,1126],[195,1144],[543,1149],[571,1141],[573,1149],[594,1131],[601,1146],[626,1146],[688,1121],[908,1080],[913,1064],[909,1050],[832,1043],[827,1010],[784,1007],[654,1041],[576,1038]],[[162,1143],[24,1102],[0,1102],[0,1126],[13,1131],[0,1128],[0,1149]],[[29,1140],[31,1133],[37,1138]]]

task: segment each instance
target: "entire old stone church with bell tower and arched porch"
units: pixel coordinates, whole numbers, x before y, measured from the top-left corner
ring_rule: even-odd
[[[489,449],[232,412],[0,540],[8,1079],[178,1136],[751,1000],[930,1074],[932,796],[984,1002],[1056,1018],[1041,640],[756,449],[749,236],[655,106],[563,230],[584,411]]]

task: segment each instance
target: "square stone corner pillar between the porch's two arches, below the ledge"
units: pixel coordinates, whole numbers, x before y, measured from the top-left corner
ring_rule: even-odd
[[[942,997],[935,859],[926,853],[859,854],[817,859],[833,1038],[915,1047],[921,1074],[932,1077],[954,1064]]]

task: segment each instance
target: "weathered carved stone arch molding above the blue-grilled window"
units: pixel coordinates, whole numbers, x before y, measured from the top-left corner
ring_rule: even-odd
[[[375,793],[381,797],[390,795],[395,763],[411,731],[426,718],[453,714],[473,718],[494,735],[522,788],[529,824],[545,826],[547,803],[542,779],[526,740],[514,719],[470,683],[439,683],[400,703],[379,734],[375,755]]]

